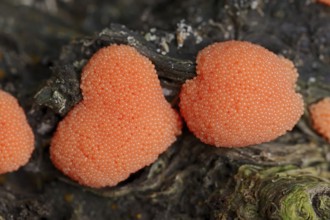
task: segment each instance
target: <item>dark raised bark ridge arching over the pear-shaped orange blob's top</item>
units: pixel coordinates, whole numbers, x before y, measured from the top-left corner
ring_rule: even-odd
[[[195,76],[194,62],[159,54],[141,34],[123,25],[112,24],[98,36],[73,42],[63,49],[60,60],[52,69],[53,77],[35,95],[36,102],[62,116],[67,114],[82,99],[79,82],[83,66],[96,51],[111,44],[136,48],[155,65],[158,76],[166,80],[180,84]]]

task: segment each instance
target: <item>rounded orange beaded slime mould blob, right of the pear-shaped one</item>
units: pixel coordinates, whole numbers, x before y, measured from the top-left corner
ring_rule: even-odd
[[[180,93],[188,128],[217,147],[244,147],[291,130],[303,113],[293,63],[249,42],[214,43]]]

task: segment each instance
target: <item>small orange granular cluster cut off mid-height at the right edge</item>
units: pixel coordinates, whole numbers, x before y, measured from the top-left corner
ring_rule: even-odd
[[[313,128],[330,141],[330,97],[309,107]]]

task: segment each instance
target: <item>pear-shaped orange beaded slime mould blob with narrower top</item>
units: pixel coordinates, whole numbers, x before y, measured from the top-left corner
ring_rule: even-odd
[[[54,165],[90,187],[114,186],[154,162],[181,133],[154,65],[136,49],[97,51],[82,71],[83,100],[51,142]]]

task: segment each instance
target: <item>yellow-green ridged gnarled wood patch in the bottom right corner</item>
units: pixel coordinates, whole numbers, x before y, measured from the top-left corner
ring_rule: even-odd
[[[317,169],[244,165],[235,180],[220,219],[233,212],[239,219],[329,219],[330,183]]]

